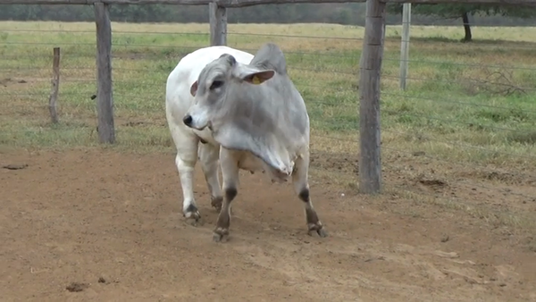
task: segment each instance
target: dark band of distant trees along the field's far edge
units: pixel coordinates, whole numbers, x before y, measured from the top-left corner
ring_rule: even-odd
[[[426,7],[428,6],[428,7]],[[459,18],[458,6],[463,4],[414,4],[415,16],[412,23],[451,25],[453,20],[437,20],[436,15]],[[467,6],[467,4],[465,4]],[[475,6],[475,5],[471,5]],[[482,6],[482,5],[480,5]],[[399,24],[401,5],[389,4],[388,24]],[[264,4],[228,10],[230,23],[297,23],[324,22],[345,25],[364,25],[365,5],[361,3],[348,4]],[[423,10],[421,12],[421,10]],[[457,11],[456,11],[457,10]],[[471,12],[482,11],[472,8]],[[428,12],[428,13],[427,13]],[[435,13],[433,13],[435,12]],[[489,17],[479,19],[479,24],[523,26],[536,25],[536,20],[501,17],[493,15],[488,10]],[[503,13],[503,11],[497,11]],[[495,13],[497,13],[495,12]],[[507,12],[507,16],[523,16],[523,9],[516,13]],[[206,22],[208,21],[208,6],[164,5],[164,4],[113,4],[110,8],[112,21],[121,22]],[[434,17],[431,18],[430,16]],[[1,5],[0,20],[13,21],[94,21],[91,5]],[[475,16],[477,18],[477,16]]]

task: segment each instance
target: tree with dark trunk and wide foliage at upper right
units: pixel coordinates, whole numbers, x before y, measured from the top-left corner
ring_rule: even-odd
[[[390,13],[402,13],[402,4],[389,4]],[[439,16],[444,19],[461,18],[464,24],[464,42],[473,40],[469,16],[493,16],[531,18],[536,16],[536,9],[533,6],[523,5],[497,5],[497,4],[412,4],[412,13]]]

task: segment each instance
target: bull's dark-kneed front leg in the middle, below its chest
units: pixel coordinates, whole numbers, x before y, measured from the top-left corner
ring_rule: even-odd
[[[222,168],[223,203],[214,229],[214,241],[227,241],[230,228],[230,207],[232,200],[237,197],[239,186],[239,161],[237,154],[224,147],[220,148],[220,163]]]

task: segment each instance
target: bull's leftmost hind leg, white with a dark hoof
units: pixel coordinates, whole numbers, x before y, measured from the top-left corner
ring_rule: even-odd
[[[199,138],[174,124],[170,125],[170,130],[175,147],[177,147],[175,164],[179,171],[180,186],[182,187],[182,213],[187,221],[196,223],[201,218],[201,214],[197,210],[193,189]]]

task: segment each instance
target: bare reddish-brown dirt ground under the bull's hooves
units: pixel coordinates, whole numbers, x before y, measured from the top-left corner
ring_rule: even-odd
[[[180,214],[174,155],[0,153],[2,301],[536,301],[536,254],[464,214],[386,210],[312,177],[330,237],[288,184],[241,173],[230,240]],[[460,193],[460,192],[458,192]]]

